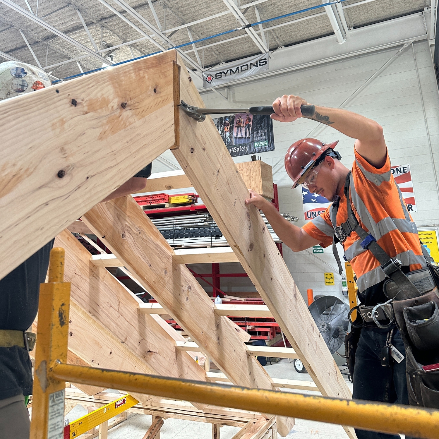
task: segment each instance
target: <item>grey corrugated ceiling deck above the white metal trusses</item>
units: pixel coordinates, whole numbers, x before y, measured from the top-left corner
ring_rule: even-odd
[[[113,0],[107,1],[108,5],[123,14],[140,31],[153,36],[153,39],[162,44],[162,46],[169,47],[169,43],[155,36],[145,25],[128,14],[120,4]],[[147,0],[127,0],[126,2],[144,19],[158,27]],[[28,0],[28,3],[33,14],[36,14],[37,0]],[[191,32],[192,39],[198,40],[219,32],[235,29],[242,25],[230,13],[224,0],[208,0],[204,2],[200,0],[152,0],[151,3],[162,27],[162,32],[169,36],[170,41],[175,45],[190,41],[188,29]],[[241,0],[241,2],[237,1],[236,3],[250,23],[259,21],[255,7],[259,11],[260,19],[266,20],[321,5],[321,0],[262,0],[258,4],[254,3],[257,2]],[[25,0],[15,0],[15,4],[29,11]],[[246,6],[248,4],[252,5],[248,7]],[[367,2],[345,0],[342,4],[348,27],[356,28],[422,11],[425,7],[429,6],[430,0],[369,0]],[[104,0],[71,0],[69,2],[63,2],[62,0],[38,0],[38,17],[93,50],[93,45],[81,24],[77,10],[82,14],[98,49],[106,49],[144,38],[138,29],[134,29],[132,25],[123,21],[122,18],[109,9],[105,5]],[[227,14],[222,14],[219,17],[176,31],[173,30],[181,25],[224,12],[227,12]],[[270,50],[306,40],[313,40],[333,33],[323,8],[271,21],[265,23],[263,28],[266,43]],[[1,3],[0,50],[20,61],[36,65],[36,61],[26,46],[19,29],[22,30],[27,38],[43,68],[85,55],[83,50],[63,40],[61,37],[55,36],[49,30],[44,29],[39,24],[14,11],[11,7]],[[254,26],[253,29],[260,36],[259,27]],[[220,43],[224,40],[226,41]],[[220,62],[244,58],[260,52],[255,42],[248,36],[245,30],[238,30],[228,35],[205,40],[197,43],[196,47],[200,61],[206,68]],[[114,50],[112,57],[113,61],[119,62],[156,52],[157,50],[159,50],[158,47],[145,38]],[[195,63],[198,62],[191,46],[184,47],[182,50],[187,52],[187,55]],[[102,66],[102,62],[93,56],[80,59],[79,64],[84,71]],[[79,66],[76,62],[70,62],[61,66],[49,67],[47,71],[63,78],[79,73]]]

